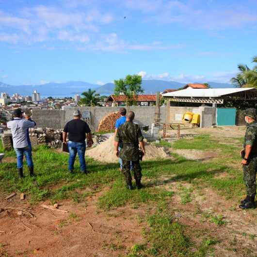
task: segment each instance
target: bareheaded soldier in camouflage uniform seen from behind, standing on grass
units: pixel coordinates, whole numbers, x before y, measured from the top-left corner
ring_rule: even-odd
[[[115,136],[116,156],[121,158],[123,166],[122,173],[125,176],[127,188],[132,190],[132,178],[130,174],[130,161],[134,167],[134,177],[137,189],[142,188],[141,184],[141,166],[140,166],[140,150],[139,145],[145,155],[144,137],[137,124],[133,123],[135,117],[134,112],[128,112],[126,122],[120,126]],[[118,151],[119,143],[121,143],[121,151]]]

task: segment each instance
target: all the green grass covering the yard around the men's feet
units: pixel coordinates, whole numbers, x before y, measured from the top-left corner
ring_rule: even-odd
[[[28,195],[32,203],[49,199],[52,203],[63,199],[73,199],[79,203],[86,201],[86,197],[103,188],[106,190],[98,198],[98,207],[112,209],[132,204],[134,208],[140,208],[142,204],[159,208],[147,218],[149,230],[145,231],[147,242],[134,245],[129,257],[204,257],[212,250],[215,239],[203,238],[202,242],[195,243],[188,236],[187,228],[173,220],[172,210],[165,204],[169,201],[173,192],[169,191],[169,185],[173,182],[190,183],[189,189],[181,187],[180,195],[183,204],[192,201],[194,188],[201,190],[203,187],[212,187],[218,193],[227,198],[236,198],[244,194],[242,172],[233,167],[233,163],[240,163],[239,150],[241,147],[224,145],[215,142],[209,135],[199,135],[194,139],[181,139],[174,144],[161,141],[160,145],[176,149],[196,149],[218,151],[219,158],[210,161],[191,161],[176,154],[172,154],[174,160],[159,159],[143,161],[142,190],[129,191],[125,188],[123,175],[119,171],[118,163],[103,164],[87,158],[89,175],[79,172],[79,162],[75,164],[75,174],[67,171],[68,155],[57,153],[46,146],[33,149],[33,161],[35,165],[35,177],[28,176],[25,169],[25,178],[19,179],[16,172],[16,163],[0,164],[0,191],[4,194],[11,192],[23,192]],[[0,146],[0,152],[2,152]],[[6,156],[15,157],[14,151],[5,152]],[[220,174],[226,176],[219,177]],[[168,185],[168,187],[166,187]],[[208,217],[207,217],[208,216]],[[206,215],[208,221],[216,225],[225,225],[223,217],[211,214]],[[76,214],[71,216],[59,226],[68,225],[78,219]],[[117,248],[112,246],[112,248]],[[192,250],[192,249],[197,250]]]

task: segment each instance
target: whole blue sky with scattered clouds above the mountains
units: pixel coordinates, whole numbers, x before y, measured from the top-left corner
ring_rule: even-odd
[[[256,0],[0,0],[0,81],[227,82],[257,55],[256,14]]]

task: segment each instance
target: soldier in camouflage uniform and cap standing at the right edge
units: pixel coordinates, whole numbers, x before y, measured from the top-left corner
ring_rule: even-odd
[[[257,172],[257,111],[249,108],[244,111],[246,132],[244,149],[241,150],[243,180],[246,185],[247,196],[239,206],[242,209],[255,208],[256,172]]]

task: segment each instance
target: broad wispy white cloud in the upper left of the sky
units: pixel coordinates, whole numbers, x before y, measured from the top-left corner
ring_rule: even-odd
[[[113,20],[112,14],[95,7],[71,12],[62,6],[37,5],[23,8],[18,14],[0,11],[0,42],[33,44],[63,40],[84,44],[89,41],[89,33],[99,37],[99,27]]]

